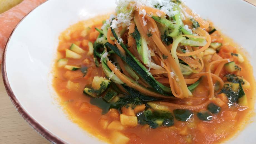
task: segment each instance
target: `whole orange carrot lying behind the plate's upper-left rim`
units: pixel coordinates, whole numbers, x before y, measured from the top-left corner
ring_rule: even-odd
[[[17,6],[0,14],[0,63],[4,46],[16,25],[26,14],[46,0],[24,0]]]

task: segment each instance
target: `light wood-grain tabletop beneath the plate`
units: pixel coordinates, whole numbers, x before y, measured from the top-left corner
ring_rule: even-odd
[[[247,0],[256,5],[256,0]],[[1,73],[0,73],[1,76]],[[2,76],[0,78],[0,144],[2,143],[50,143],[40,136],[28,123],[19,115],[7,95]]]

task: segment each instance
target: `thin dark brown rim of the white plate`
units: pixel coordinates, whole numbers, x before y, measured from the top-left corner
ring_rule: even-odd
[[[4,46],[4,52],[2,55],[2,78],[3,78],[3,83],[4,83],[4,87],[5,90],[11,100],[11,102],[14,105],[14,108],[19,112],[19,114],[23,117],[23,119],[34,129],[36,130],[36,132],[38,134],[40,134],[41,136],[43,136],[46,140],[50,141],[51,143],[61,143],[64,144],[65,142],[61,139],[58,138],[58,136],[54,135],[53,133],[51,133],[50,131],[46,130],[46,128],[44,128],[43,126],[41,126],[34,118],[32,118],[31,115],[29,115],[27,113],[27,111],[21,106],[21,104],[19,103],[19,101],[17,100],[16,96],[13,93],[13,90],[10,86],[10,83],[8,81],[8,77],[7,77],[7,72],[6,72],[6,51],[8,48],[8,44],[9,41],[14,33],[14,31],[16,30],[16,28],[19,26],[19,24],[31,13],[33,12],[35,9],[39,8],[40,6],[42,6],[43,4],[45,4],[46,2],[48,2],[49,0],[46,0],[45,2],[41,3],[39,6],[37,6],[36,8],[34,8],[33,10],[31,10],[28,14],[26,14],[24,16],[24,18],[21,19],[21,21],[19,21],[19,23],[15,26],[15,28],[13,29],[13,31],[11,32],[5,46]],[[242,0],[254,7],[256,7],[256,5],[246,1],[246,0]]]

